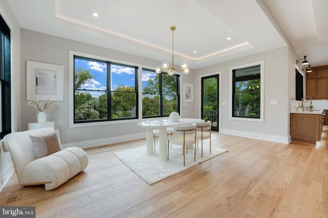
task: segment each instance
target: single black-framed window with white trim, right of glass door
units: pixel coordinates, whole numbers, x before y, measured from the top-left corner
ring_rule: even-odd
[[[231,119],[263,122],[263,62],[231,68]]]

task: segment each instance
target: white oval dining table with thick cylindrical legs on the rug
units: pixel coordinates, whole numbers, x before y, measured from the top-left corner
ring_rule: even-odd
[[[167,128],[178,125],[188,125],[197,122],[204,122],[203,119],[197,118],[180,118],[176,122],[172,122],[170,119],[154,119],[137,123],[139,127],[146,128],[146,146],[147,154],[153,154],[153,130],[158,129],[158,141],[159,141],[159,160],[167,160]]]

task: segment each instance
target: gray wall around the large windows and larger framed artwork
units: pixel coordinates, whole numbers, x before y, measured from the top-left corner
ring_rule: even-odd
[[[122,122],[115,125],[103,125],[92,127],[69,128],[69,50],[87,54],[118,59],[145,66],[160,65],[159,61],[122,53],[104,47],[86,44],[70,39],[51,36],[35,31],[21,30],[21,98],[22,98],[22,130],[27,130],[28,123],[36,122],[38,111],[27,106],[26,101],[26,61],[36,61],[64,66],[64,101],[56,101],[54,109],[47,110],[47,120],[55,122],[55,128],[59,130],[60,140],[66,146],[77,146],[81,148],[97,146],[100,144],[113,143],[136,137],[145,137],[145,129],[136,126],[140,119],[132,120],[132,123]],[[181,75],[181,80],[190,82],[193,77]],[[186,110],[188,109],[188,110]],[[183,111],[186,111],[183,114]],[[181,115],[191,117],[193,115],[192,105],[183,106]],[[103,140],[101,140],[103,139]]]

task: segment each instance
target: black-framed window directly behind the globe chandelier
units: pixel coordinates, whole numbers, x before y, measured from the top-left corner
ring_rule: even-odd
[[[179,75],[142,69],[142,117],[168,116],[180,111]]]

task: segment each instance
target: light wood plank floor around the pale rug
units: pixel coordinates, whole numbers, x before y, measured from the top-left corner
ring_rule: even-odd
[[[328,217],[327,132],[317,146],[214,133],[229,152],[153,185],[114,155],[145,140],[88,149],[85,171],[55,190],[14,174],[0,205],[36,206],[36,217]]]

